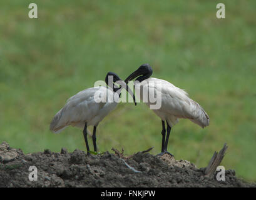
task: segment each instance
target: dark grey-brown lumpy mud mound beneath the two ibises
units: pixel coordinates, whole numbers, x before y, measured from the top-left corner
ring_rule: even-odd
[[[38,181],[29,181],[29,166],[36,166]],[[86,156],[76,149],[68,153],[45,150],[23,154],[21,149],[0,144],[0,187],[250,187],[226,171],[225,181],[204,176],[189,161],[164,155],[136,153],[125,158],[104,153]]]

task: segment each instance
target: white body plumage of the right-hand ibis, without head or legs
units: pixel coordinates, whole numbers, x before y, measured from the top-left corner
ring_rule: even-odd
[[[162,79],[148,78],[141,83],[137,82],[135,91],[139,91],[138,87],[140,87],[141,99],[143,99],[143,88],[148,88],[149,93],[154,92],[156,94],[157,91],[161,93],[161,96],[156,95],[156,101],[161,101],[161,107],[160,109],[153,109],[153,111],[162,121],[167,121],[170,126],[178,123],[178,118],[190,119],[202,128],[209,125],[210,118],[203,108],[190,99],[183,89],[177,88],[172,83]],[[148,101],[146,104],[150,106],[155,103]]]

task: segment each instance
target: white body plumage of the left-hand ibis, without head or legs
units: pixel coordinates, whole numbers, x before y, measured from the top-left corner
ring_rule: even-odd
[[[103,86],[84,89],[68,99],[66,105],[54,116],[50,130],[59,133],[69,125],[84,128],[85,123],[87,126],[98,126],[100,121],[116,108],[117,103],[96,103],[96,93],[106,95],[106,99],[109,99],[109,96],[111,99],[119,98],[117,93]]]

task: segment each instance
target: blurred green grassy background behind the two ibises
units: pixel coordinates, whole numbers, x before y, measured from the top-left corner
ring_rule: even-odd
[[[108,71],[125,79],[150,63],[153,77],[185,89],[211,119],[205,129],[180,119],[170,153],[200,168],[227,143],[222,165],[256,181],[256,1],[221,1],[225,19],[218,1],[33,2],[38,19],[28,17],[31,1],[0,2],[0,143],[86,151],[80,129],[49,131],[54,114]],[[161,120],[143,103],[121,103],[97,143],[101,152],[160,153]]]

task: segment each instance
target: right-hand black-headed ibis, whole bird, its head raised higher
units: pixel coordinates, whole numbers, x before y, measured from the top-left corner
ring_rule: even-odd
[[[143,64],[125,79],[125,83],[127,84],[128,81],[136,78],[135,93],[137,94],[137,91],[140,91],[140,98],[143,98],[143,89],[148,90],[149,96],[154,96],[157,92],[160,93],[160,96],[157,96],[156,94],[156,102],[160,101],[161,106],[159,109],[153,109],[153,111],[158,117],[161,118],[162,143],[161,153],[158,154],[161,156],[168,153],[168,139],[172,126],[178,123],[178,118],[190,119],[193,123],[198,124],[202,128],[209,125],[210,118],[203,110],[202,106],[190,99],[188,94],[183,91],[183,89],[177,88],[168,81],[150,78],[152,73],[153,71],[151,66],[149,64]],[[143,99],[143,101],[145,100]],[[155,102],[152,103],[150,101],[146,101],[146,104],[151,106],[152,104],[155,104]],[[165,121],[167,124],[167,134],[165,129]]]

